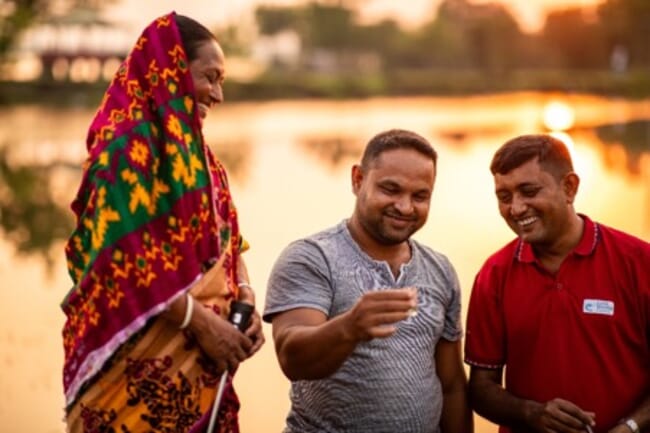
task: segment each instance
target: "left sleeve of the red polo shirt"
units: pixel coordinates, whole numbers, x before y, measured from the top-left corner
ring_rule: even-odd
[[[465,362],[482,368],[505,364],[505,323],[498,267],[489,263],[479,271],[469,301],[465,334]]]

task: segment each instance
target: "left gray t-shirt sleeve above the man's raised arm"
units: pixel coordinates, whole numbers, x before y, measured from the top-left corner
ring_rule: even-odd
[[[299,240],[276,260],[269,276],[263,319],[295,308],[313,308],[329,315],[332,304],[331,273],[322,250]]]

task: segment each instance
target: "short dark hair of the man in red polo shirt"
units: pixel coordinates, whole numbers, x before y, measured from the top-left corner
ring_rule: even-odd
[[[573,171],[569,149],[562,140],[547,134],[521,135],[508,140],[495,152],[490,171],[493,175],[506,174],[534,158],[558,180]]]

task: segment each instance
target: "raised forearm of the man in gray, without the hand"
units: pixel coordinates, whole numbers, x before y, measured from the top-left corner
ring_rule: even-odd
[[[275,337],[280,366],[290,380],[322,379],[341,367],[358,343],[346,335],[343,320],[288,326]]]

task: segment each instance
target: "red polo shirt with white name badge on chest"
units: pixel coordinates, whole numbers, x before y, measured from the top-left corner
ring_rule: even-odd
[[[519,239],[485,262],[465,362],[505,366],[517,397],[595,412],[600,433],[650,392],[650,244],[581,217],[582,239],[555,275]]]

